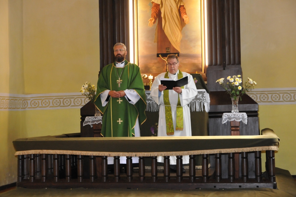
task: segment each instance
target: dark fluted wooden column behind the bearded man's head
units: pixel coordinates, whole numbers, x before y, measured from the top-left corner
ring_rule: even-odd
[[[113,46],[126,45],[129,54],[128,0],[99,0],[100,70],[114,62]],[[129,61],[129,55],[126,56]]]

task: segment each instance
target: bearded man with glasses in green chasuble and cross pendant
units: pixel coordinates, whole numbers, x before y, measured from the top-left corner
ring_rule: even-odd
[[[140,136],[146,120],[146,96],[140,69],[125,60],[126,46],[113,47],[115,62],[105,66],[99,76],[94,104],[103,114],[102,136]]]

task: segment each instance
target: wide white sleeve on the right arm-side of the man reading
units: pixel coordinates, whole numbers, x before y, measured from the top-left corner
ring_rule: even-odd
[[[182,89],[182,94],[180,94],[180,102],[181,106],[185,106],[194,99],[194,97],[197,95],[197,89],[195,86],[195,83],[193,81],[193,77],[191,74],[187,75],[188,76],[188,84],[184,89]]]

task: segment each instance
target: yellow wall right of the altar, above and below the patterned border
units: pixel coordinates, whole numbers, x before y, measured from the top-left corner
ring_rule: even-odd
[[[295,10],[295,0],[240,0],[243,76],[256,88],[296,87]],[[295,111],[296,105],[259,106],[260,129],[271,128],[281,139],[276,167],[294,175]]]

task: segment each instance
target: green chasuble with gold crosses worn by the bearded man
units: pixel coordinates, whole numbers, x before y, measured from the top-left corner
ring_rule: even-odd
[[[102,131],[104,137],[132,137],[135,136],[134,127],[137,118],[139,126],[145,122],[146,96],[140,69],[136,64],[125,60],[123,68],[116,68],[115,62],[105,66],[99,76],[94,104],[103,114]],[[117,69],[117,72],[116,72]],[[118,75],[120,76],[118,81]],[[118,73],[118,75],[117,75]],[[120,87],[118,87],[118,82]],[[133,89],[141,97],[135,105],[130,104],[125,97],[110,97],[107,105],[102,107],[100,94],[105,90]]]

